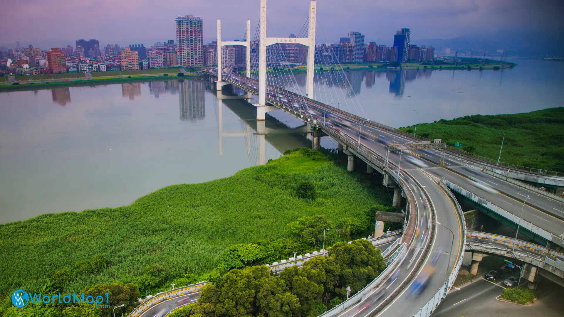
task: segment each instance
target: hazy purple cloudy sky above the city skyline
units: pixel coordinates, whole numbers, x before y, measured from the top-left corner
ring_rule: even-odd
[[[100,46],[117,43],[152,45],[175,39],[176,15],[204,19],[204,42],[215,39],[215,20],[222,19],[222,38],[242,38],[245,19],[257,27],[258,0],[3,0],[0,45],[74,46],[76,39],[95,38]],[[318,42],[337,42],[351,30],[366,42],[391,45],[399,28],[411,38],[453,38],[489,30],[562,29],[558,0],[319,0]],[[268,36],[298,33],[307,18],[308,0],[269,0]],[[425,43],[416,43],[425,45]]]

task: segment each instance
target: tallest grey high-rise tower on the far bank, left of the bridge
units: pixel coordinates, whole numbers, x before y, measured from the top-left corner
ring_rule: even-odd
[[[196,66],[204,63],[204,20],[192,15],[176,18],[178,65]],[[217,61],[216,61],[217,63]],[[208,63],[209,64],[209,63]]]

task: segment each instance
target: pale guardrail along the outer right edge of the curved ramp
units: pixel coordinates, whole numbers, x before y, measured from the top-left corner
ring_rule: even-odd
[[[452,195],[452,193],[448,190],[448,188],[444,185],[443,182],[444,180],[441,180],[441,182],[439,182],[439,186],[443,187],[444,191],[447,193],[447,195],[451,198],[451,200],[454,202],[456,206],[456,213],[459,215],[459,221],[462,224],[462,237],[461,237],[462,245],[466,245],[466,223],[464,222],[464,214],[462,213],[462,209],[460,208],[460,205],[458,204],[455,196]],[[437,293],[434,294],[431,300],[428,301],[423,307],[421,307],[421,309],[418,312],[416,312],[416,314],[413,315],[413,317],[429,317],[431,314],[433,314],[433,311],[437,309],[437,306],[439,306],[440,302],[442,302],[444,300],[444,297],[447,296],[448,290],[450,290],[452,284],[455,283],[456,276],[458,276],[458,273],[460,271],[460,266],[462,265],[463,256],[464,256],[464,248],[461,248],[455,267],[452,269],[452,272],[448,276],[446,282],[443,284],[442,287],[439,288],[439,290],[437,290]]]

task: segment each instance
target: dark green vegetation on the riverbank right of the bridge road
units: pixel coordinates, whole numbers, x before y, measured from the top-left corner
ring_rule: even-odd
[[[414,126],[401,130],[413,133]],[[501,161],[564,172],[564,107],[495,116],[465,116],[418,124],[417,135],[443,139],[450,146],[497,159],[503,133]]]

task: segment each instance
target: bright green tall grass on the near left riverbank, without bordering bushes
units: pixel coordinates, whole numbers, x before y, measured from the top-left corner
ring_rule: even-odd
[[[315,185],[315,201],[297,197],[302,180]],[[73,263],[98,254],[108,268],[65,290],[139,276],[153,264],[173,276],[207,272],[232,244],[279,239],[285,224],[305,215],[358,217],[382,201],[389,201],[384,191],[364,187],[342,166],[294,152],[231,177],[165,187],[129,206],[2,224],[0,294],[41,289],[51,272],[73,271]]]

